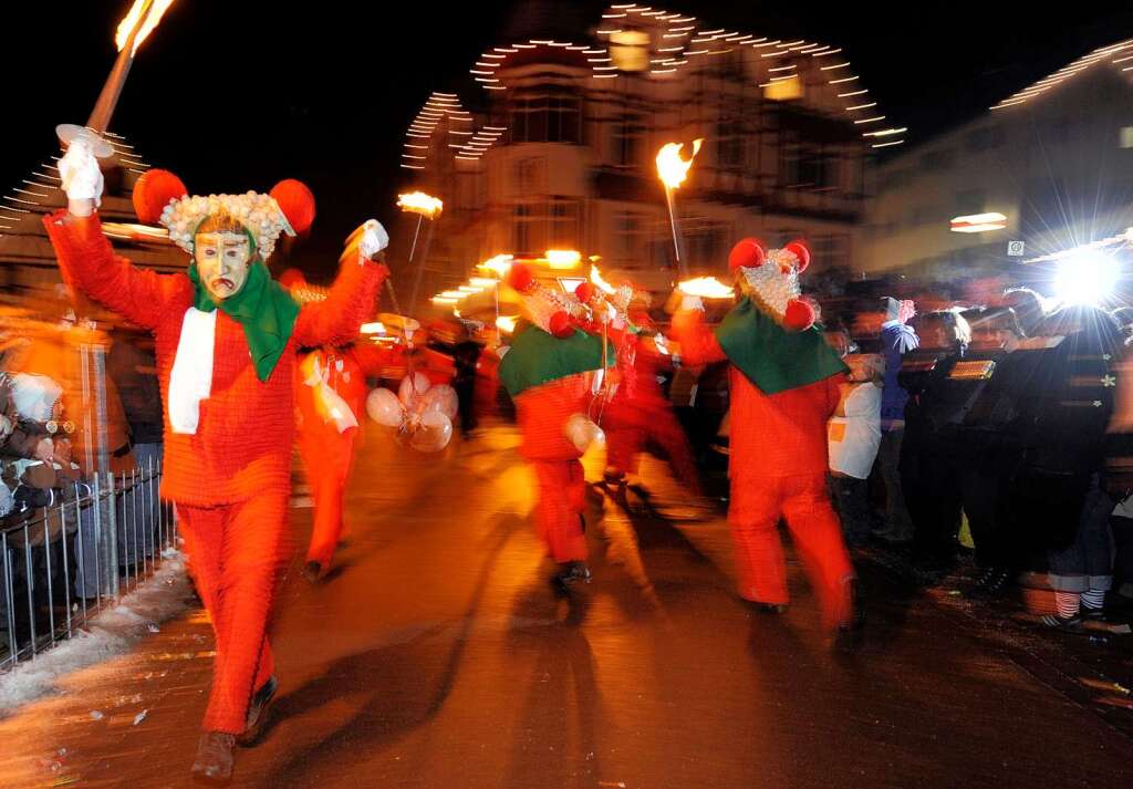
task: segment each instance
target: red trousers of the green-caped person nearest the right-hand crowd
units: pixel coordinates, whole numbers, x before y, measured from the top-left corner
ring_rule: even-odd
[[[786,560],[778,534],[781,517],[818,592],[823,622],[835,627],[849,621],[852,608],[847,582],[854,571],[823,474],[733,476],[727,520],[735,545],[740,596],[760,603],[789,602]]]

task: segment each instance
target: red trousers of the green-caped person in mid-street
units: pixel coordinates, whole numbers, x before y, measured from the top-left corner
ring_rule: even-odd
[[[535,526],[539,538],[557,562],[585,561],[582,508],[586,480],[578,460],[530,460],[539,489]]]

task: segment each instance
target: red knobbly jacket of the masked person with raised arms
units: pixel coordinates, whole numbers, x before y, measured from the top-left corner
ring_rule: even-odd
[[[130,265],[102,235],[97,214],[80,219],[59,211],[43,222],[65,279],[153,332],[161,396],[168,402],[181,323],[193,306],[189,278]],[[197,432],[173,433],[165,409],[162,495],[210,507],[246,501],[264,490],[287,490],[295,439],[296,349],[352,339],[386,274],[385,266],[374,263],[343,265],[329,298],[303,306],[288,348],[265,382],[256,377],[242,326],[220,312],[212,394],[201,401]]]

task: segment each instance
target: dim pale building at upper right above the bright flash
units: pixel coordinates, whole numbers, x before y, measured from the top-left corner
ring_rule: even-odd
[[[1133,224],[1133,41],[901,150],[871,181],[855,261],[870,274],[996,274],[1123,232]],[[971,217],[986,229],[972,229]]]

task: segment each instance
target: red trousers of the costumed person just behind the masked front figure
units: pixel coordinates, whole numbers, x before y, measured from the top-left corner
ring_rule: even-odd
[[[324,568],[330,566],[334,549],[342,538],[347,480],[350,477],[357,432],[350,429],[346,433],[334,431],[332,434],[322,425],[318,430],[299,429],[299,457],[315,500],[307,561],[317,561]]]

